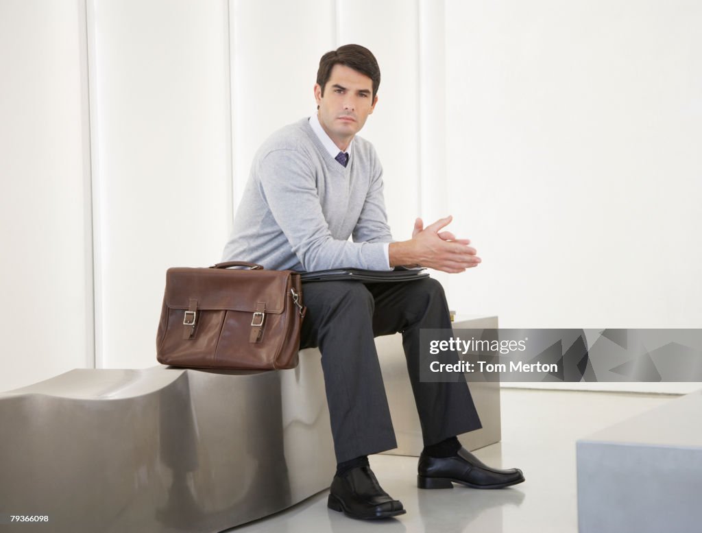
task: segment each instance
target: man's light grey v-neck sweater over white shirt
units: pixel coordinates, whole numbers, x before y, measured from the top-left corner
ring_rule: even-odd
[[[305,118],[256,153],[223,260],[272,270],[387,270],[383,243],[391,241],[373,145],[355,137],[344,167]]]

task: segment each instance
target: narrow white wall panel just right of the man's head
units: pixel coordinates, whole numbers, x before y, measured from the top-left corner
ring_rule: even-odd
[[[385,203],[395,239],[419,216],[419,43],[417,0],[340,0],[337,46],[361,44],[380,65],[378,105],[360,135],[383,163]]]

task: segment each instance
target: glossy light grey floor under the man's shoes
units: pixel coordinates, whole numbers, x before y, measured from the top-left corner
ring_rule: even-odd
[[[494,466],[522,468],[527,481],[509,489],[416,488],[416,458],[371,457],[383,488],[407,514],[362,522],[326,508],[327,492],[257,522],[230,529],[263,532],[575,533],[578,438],[652,409],[672,396],[505,389],[500,444],[476,454]]]

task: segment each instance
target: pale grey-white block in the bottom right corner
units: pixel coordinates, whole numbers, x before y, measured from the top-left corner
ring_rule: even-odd
[[[580,533],[702,531],[702,394],[578,440]]]

